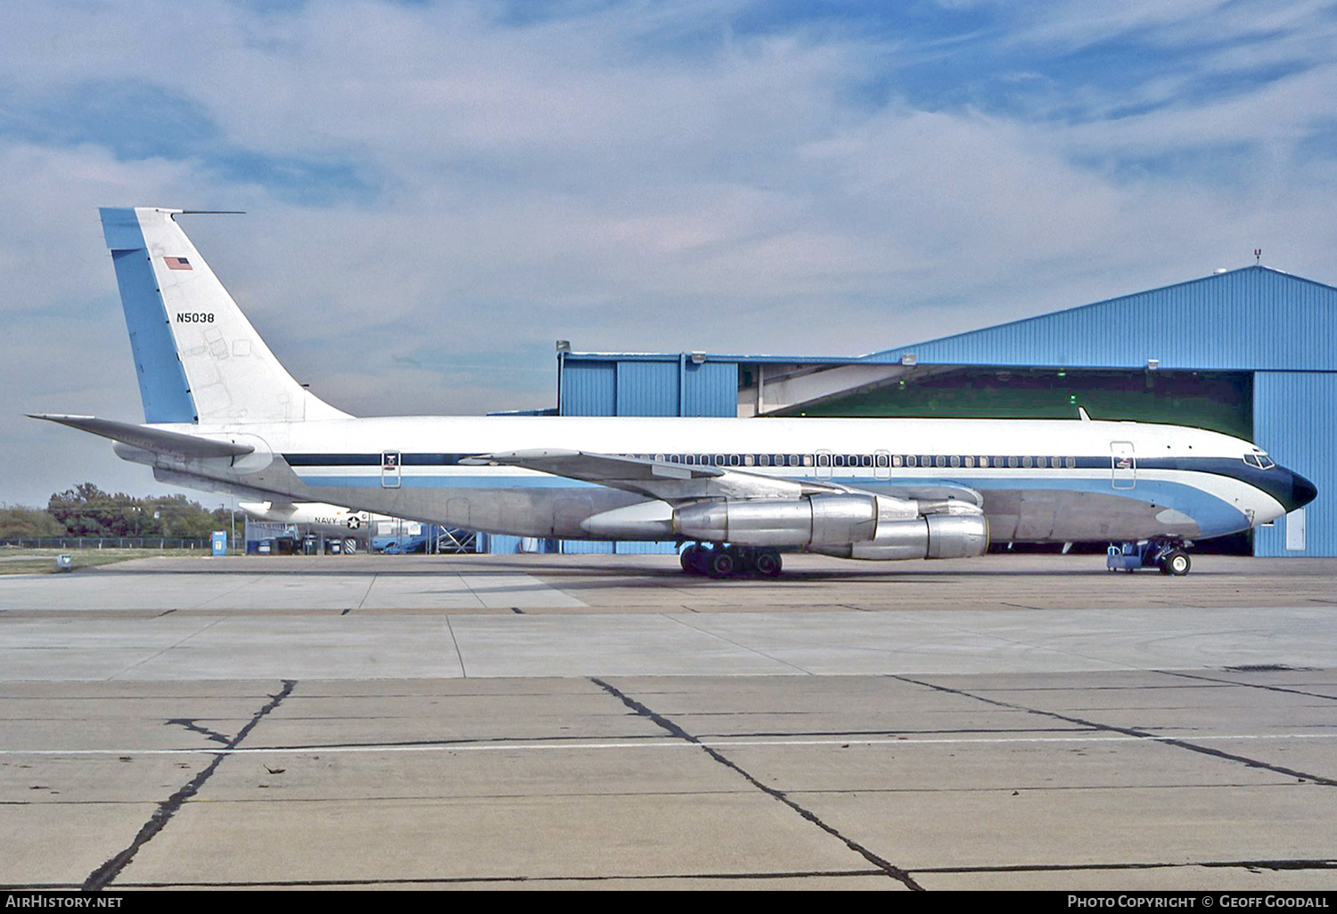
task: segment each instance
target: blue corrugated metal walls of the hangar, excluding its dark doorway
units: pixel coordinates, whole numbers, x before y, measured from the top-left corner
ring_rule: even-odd
[[[1254,552],[1337,556],[1337,289],[1332,286],[1251,266],[862,361],[896,363],[905,357],[919,366],[1249,373],[1254,440],[1318,486],[1318,498],[1305,509],[1304,549],[1286,548],[1286,524],[1278,522],[1258,530]],[[710,355],[698,363],[687,354],[566,353],[562,413],[734,416],[738,365],[749,361],[746,355]],[[571,548],[611,551],[608,544]]]

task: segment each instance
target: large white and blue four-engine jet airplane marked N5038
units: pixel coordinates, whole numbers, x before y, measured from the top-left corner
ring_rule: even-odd
[[[364,417],[279,365],[179,227],[103,208],[144,422],[111,438],[154,477],[527,537],[674,540],[689,573],[774,576],[782,552],[960,559],[997,543],[1187,548],[1317,496],[1249,441],[1074,420]],[[1112,549],[1112,548],[1111,548]]]

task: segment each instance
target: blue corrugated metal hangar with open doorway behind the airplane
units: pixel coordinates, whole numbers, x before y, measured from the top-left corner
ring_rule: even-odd
[[[1253,537],[1259,556],[1337,556],[1337,287],[1265,266],[857,358],[578,353],[563,416],[923,416],[1191,425],[1255,441],[1318,500]],[[493,551],[511,551],[492,537]],[[563,543],[567,552],[654,544]]]

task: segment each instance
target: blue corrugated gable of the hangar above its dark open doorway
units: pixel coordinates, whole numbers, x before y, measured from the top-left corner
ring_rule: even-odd
[[[1265,266],[866,357],[920,365],[1337,370],[1337,289]]]

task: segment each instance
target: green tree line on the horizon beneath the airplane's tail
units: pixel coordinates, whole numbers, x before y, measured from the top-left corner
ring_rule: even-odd
[[[207,537],[226,530],[231,512],[206,509],[186,496],[136,498],[103,492],[92,482],[52,493],[45,508],[0,505],[0,537],[39,536],[170,536]]]

